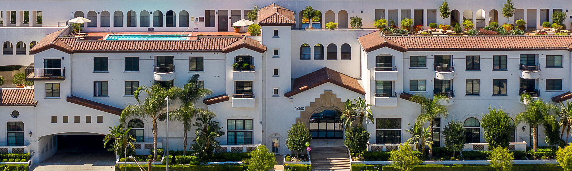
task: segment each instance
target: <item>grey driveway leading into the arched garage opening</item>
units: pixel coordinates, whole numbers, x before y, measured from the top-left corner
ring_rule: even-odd
[[[114,171],[113,153],[56,153],[54,156],[31,166],[30,170],[92,170]]]

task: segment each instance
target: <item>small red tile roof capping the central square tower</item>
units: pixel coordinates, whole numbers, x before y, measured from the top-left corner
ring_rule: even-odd
[[[272,3],[258,11],[260,25],[294,25],[294,11]]]

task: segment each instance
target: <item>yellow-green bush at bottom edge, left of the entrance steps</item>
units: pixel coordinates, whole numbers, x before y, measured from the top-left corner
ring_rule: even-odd
[[[276,158],[274,153],[268,152],[264,145],[259,145],[249,153],[252,157],[248,162],[248,171],[267,171],[274,168]]]

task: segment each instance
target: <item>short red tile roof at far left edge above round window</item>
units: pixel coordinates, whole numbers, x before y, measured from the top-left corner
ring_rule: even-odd
[[[0,106],[35,106],[34,89],[0,89]]]

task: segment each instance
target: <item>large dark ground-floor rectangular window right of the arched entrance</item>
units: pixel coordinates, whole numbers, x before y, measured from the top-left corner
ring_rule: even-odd
[[[401,143],[401,118],[378,118],[376,123],[376,143]]]

